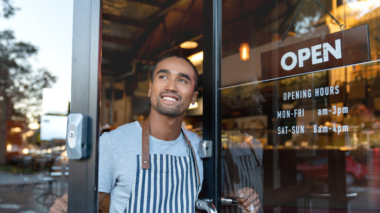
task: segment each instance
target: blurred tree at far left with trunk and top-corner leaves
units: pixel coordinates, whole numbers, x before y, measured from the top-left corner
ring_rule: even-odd
[[[4,18],[17,10],[9,0],[0,0],[1,6]],[[6,122],[33,122],[41,113],[42,89],[56,82],[49,71],[32,69],[28,60],[37,52],[32,44],[17,41],[13,31],[0,31],[0,165],[5,164]]]

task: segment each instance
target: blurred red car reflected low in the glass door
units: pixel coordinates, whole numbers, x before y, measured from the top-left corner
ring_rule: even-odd
[[[304,178],[328,178],[328,160],[326,158],[318,158],[297,165],[297,180]],[[346,157],[346,184],[351,185],[355,181],[359,181],[367,176],[367,167],[357,162],[354,157]]]

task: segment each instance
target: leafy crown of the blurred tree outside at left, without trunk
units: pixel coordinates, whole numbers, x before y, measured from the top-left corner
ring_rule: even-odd
[[[0,96],[3,94],[16,113],[37,117],[42,89],[56,82],[49,71],[34,71],[28,60],[37,53],[29,43],[16,41],[12,31],[0,31]]]

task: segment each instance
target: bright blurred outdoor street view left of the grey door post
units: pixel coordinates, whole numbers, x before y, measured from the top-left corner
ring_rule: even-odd
[[[48,212],[68,188],[73,0],[0,9],[0,212]]]

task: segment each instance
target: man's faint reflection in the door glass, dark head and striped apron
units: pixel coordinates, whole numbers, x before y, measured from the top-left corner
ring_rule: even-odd
[[[228,92],[227,92],[228,93]],[[223,101],[223,100],[222,100]],[[257,84],[235,88],[228,94],[225,111],[234,115],[261,115],[265,99]],[[238,112],[238,113],[237,113]],[[232,120],[231,120],[232,121]],[[241,132],[236,122],[227,122],[224,130],[229,138],[222,147],[222,196],[241,198],[241,193],[251,191],[251,203],[243,212],[262,213],[263,200],[263,146],[252,136]],[[253,125],[251,122],[248,126]],[[241,209],[241,208],[240,208]],[[241,212],[234,206],[224,206],[223,212]]]

